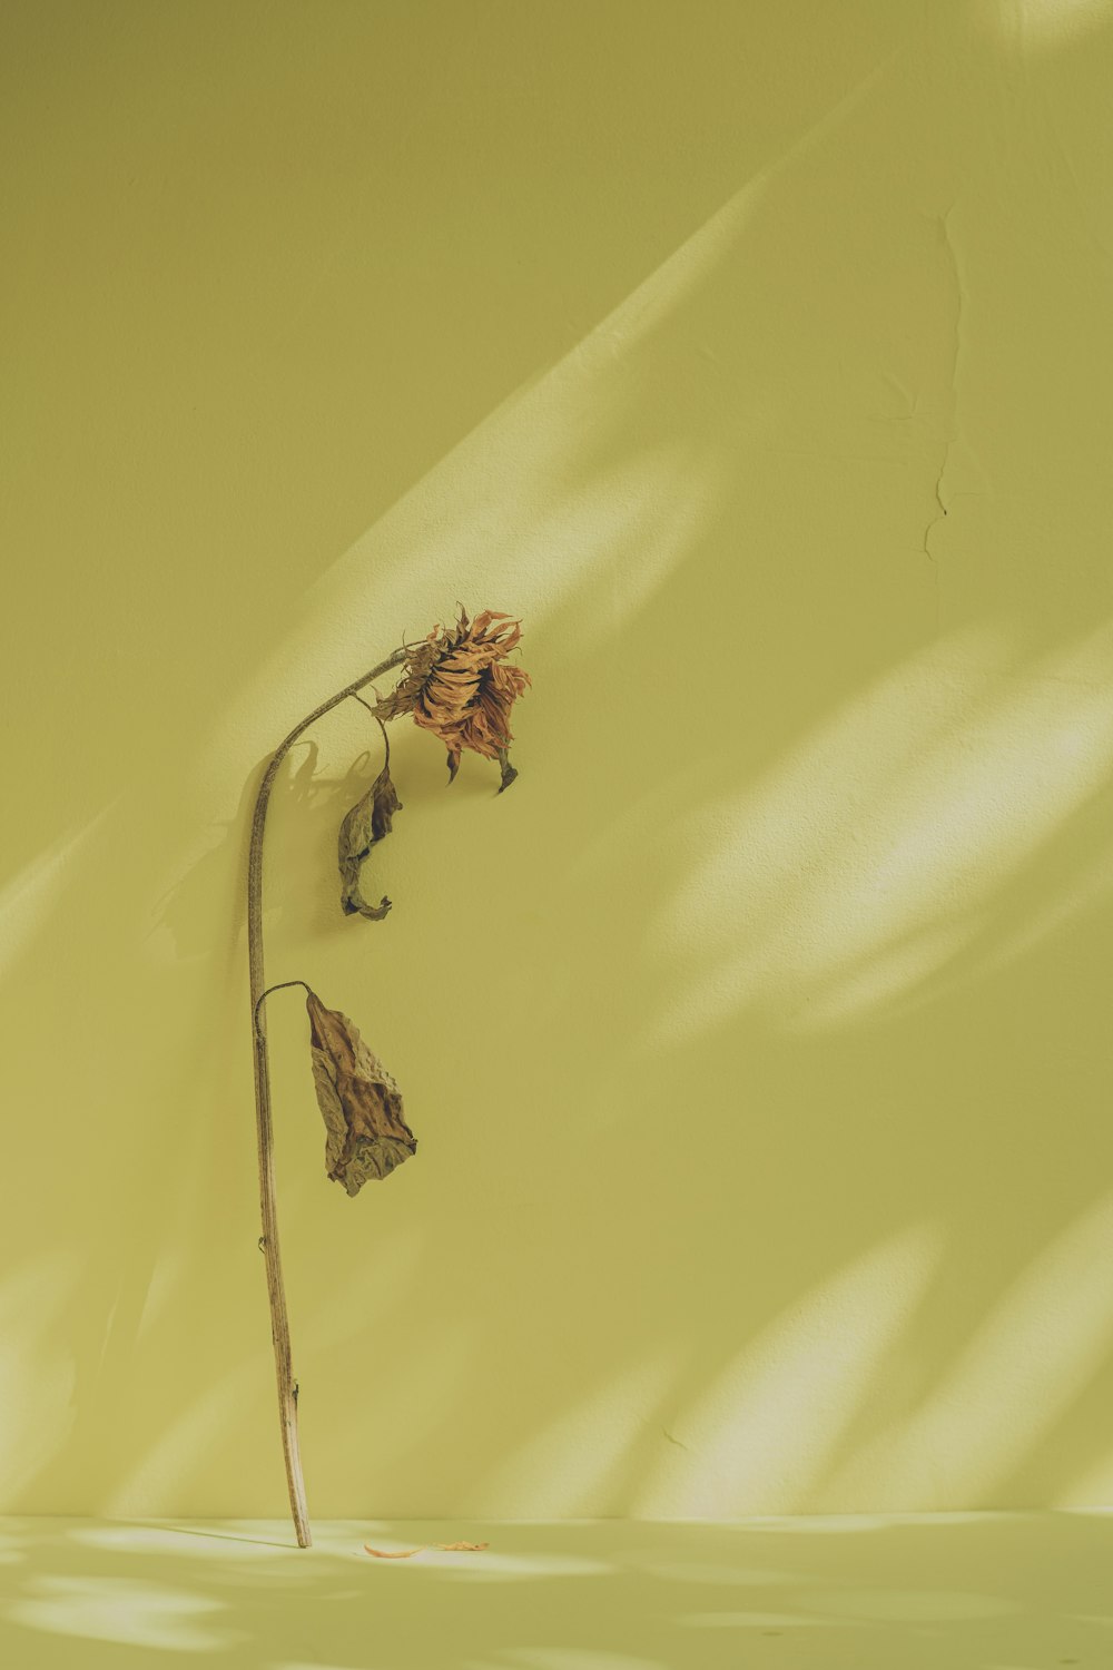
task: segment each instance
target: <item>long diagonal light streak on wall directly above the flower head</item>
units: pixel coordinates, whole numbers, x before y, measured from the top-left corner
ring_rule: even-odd
[[[214,762],[219,768],[225,758],[242,758],[244,735],[254,733],[275,685],[287,686],[290,711],[319,700],[312,670],[322,645],[355,670],[367,663],[369,643],[380,643],[377,623],[387,630],[385,623],[400,621],[410,636],[419,626],[427,630],[410,620],[415,598],[446,596],[449,586],[469,596],[512,598],[536,631],[561,601],[576,596],[577,636],[591,635],[601,581],[609,574],[617,579],[616,591],[602,595],[616,603],[614,613],[644,600],[713,518],[729,483],[731,446],[724,456],[714,448],[701,453],[679,434],[659,451],[599,473],[599,436],[611,424],[621,434],[631,402],[644,402],[644,392],[631,386],[641,351],[738,245],[766,194],[854,115],[901,50],[886,53],[332,564],[307,593],[299,625],[280,650],[240,700],[229,703],[205,750],[207,775]],[[778,416],[766,391],[761,418],[753,419],[754,438]],[[579,486],[584,479],[587,488]]]

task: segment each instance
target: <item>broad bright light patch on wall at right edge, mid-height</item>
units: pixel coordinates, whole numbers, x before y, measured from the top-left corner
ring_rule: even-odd
[[[756,788],[686,828],[651,944],[691,972],[657,1037],[758,1005],[793,1030],[884,1009],[983,927],[1000,888],[1108,782],[1113,633],[1000,671],[943,641],[878,680]],[[1105,870],[1090,875],[1103,885]],[[1041,895],[1038,908],[1046,913]],[[1056,900],[1076,908],[1081,893]],[[699,1015],[694,1022],[692,1015]]]

